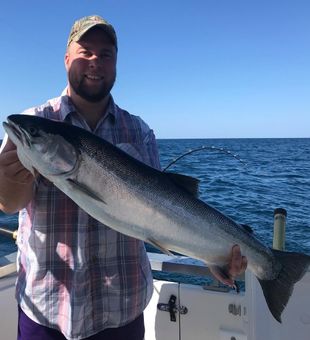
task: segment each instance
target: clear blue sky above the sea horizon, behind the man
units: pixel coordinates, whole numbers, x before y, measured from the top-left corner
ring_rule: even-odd
[[[118,34],[115,101],[158,138],[310,137],[308,0],[3,1],[1,121],[61,93],[90,14]]]

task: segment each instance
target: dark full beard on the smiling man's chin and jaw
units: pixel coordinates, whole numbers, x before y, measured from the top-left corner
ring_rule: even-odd
[[[77,95],[88,102],[98,103],[110,94],[116,79],[116,74],[111,81],[104,81],[96,90],[87,86],[87,84],[85,84],[85,78],[76,76],[72,70],[69,71],[68,79],[69,84]]]

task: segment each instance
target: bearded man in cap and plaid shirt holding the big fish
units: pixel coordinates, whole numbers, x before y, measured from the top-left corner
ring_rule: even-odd
[[[25,111],[69,122],[160,168],[153,131],[120,109],[110,94],[116,78],[117,37],[99,16],[76,21],[65,55],[68,87]],[[143,310],[152,274],[142,241],[87,215],[39,174],[33,177],[5,139],[0,154],[0,209],[20,210],[18,231],[18,339],[142,340]],[[227,284],[246,260],[232,249]]]

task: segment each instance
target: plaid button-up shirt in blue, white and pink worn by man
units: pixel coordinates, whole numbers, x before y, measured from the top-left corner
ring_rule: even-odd
[[[89,130],[65,93],[25,113]],[[112,97],[93,132],[160,168],[153,131]],[[139,316],[151,298],[144,243],[99,223],[43,177],[19,214],[17,245],[18,303],[32,320],[60,330],[67,339],[122,326]]]

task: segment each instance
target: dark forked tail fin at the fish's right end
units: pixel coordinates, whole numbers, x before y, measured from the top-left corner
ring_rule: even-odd
[[[258,281],[271,314],[281,323],[281,314],[292,295],[294,284],[306,273],[310,264],[310,256],[274,249],[272,249],[272,252],[282,264],[282,269],[276,279],[258,279]]]

